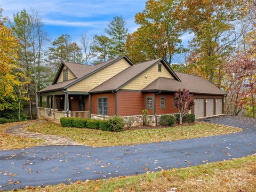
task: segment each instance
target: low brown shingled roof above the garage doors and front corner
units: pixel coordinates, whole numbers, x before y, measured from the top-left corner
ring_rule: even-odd
[[[175,92],[177,89],[188,89],[191,93],[196,94],[215,94],[225,95],[226,93],[220,90],[217,86],[213,85],[203,77],[183,74],[175,72],[181,82],[175,81],[175,79],[158,77],[154,82],[147,85],[142,92],[154,92],[165,91]]]

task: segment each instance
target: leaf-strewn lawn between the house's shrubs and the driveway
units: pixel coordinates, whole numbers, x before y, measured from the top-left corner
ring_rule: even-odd
[[[174,141],[180,139],[207,137],[242,131],[236,127],[209,123],[175,126],[163,129],[125,130],[108,132],[101,130],[62,127],[60,124],[47,122],[25,127],[27,131],[65,136],[87,146],[105,147],[135,145],[139,143]]]

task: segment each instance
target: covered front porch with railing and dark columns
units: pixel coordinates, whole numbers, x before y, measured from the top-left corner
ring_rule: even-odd
[[[86,92],[55,91],[39,94],[38,114],[41,118],[90,118],[90,95]]]

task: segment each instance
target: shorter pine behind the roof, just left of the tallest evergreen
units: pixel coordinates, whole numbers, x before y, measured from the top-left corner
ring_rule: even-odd
[[[112,58],[112,41],[105,35],[95,35],[93,37],[93,44],[91,49],[93,51],[94,57],[97,58],[97,60],[93,61],[94,65],[105,62]]]

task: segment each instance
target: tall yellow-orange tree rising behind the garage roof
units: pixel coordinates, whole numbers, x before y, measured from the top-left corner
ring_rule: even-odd
[[[214,83],[220,77],[223,61],[232,51],[232,45],[241,37],[237,21],[243,17],[244,2],[236,0],[184,1],[180,22],[195,37],[190,42],[191,60]],[[198,66],[198,67],[197,67]],[[220,81],[219,81],[220,82]],[[217,83],[218,84],[218,83]]]

